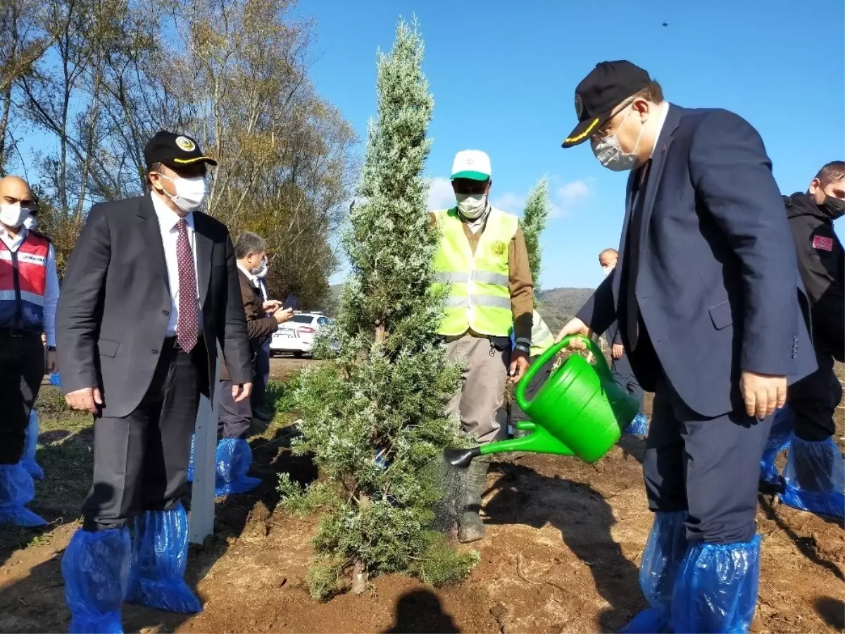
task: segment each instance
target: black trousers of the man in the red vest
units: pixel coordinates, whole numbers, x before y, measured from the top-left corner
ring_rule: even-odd
[[[24,455],[26,426],[43,378],[41,336],[0,329],[0,464],[15,464]]]

